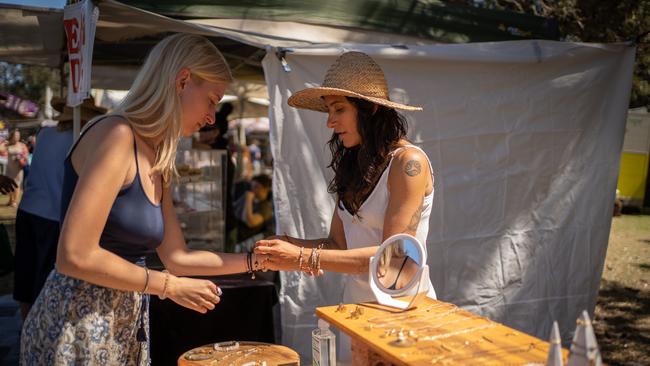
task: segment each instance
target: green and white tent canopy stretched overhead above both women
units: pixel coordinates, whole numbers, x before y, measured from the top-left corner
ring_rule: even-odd
[[[236,0],[213,5],[169,0],[101,0],[95,4],[100,16],[92,75],[93,87],[101,89],[128,89],[149,49],[174,32],[210,37],[237,79],[257,82],[263,82],[260,62],[267,47],[557,37],[556,26],[544,18],[453,5],[414,6],[405,0],[355,4],[330,0],[325,5],[277,0],[257,6]],[[62,9],[1,1],[0,9],[0,60],[61,67],[66,57]]]

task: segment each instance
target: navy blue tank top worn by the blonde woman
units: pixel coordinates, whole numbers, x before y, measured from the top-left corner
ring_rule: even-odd
[[[101,120],[103,119],[88,126],[86,132]],[[63,224],[79,179],[72,166],[72,152],[83,136],[81,135],[72,146],[64,162],[61,224]],[[164,223],[162,205],[153,204],[142,188],[135,136],[133,137],[133,151],[136,166],[135,178],[131,184],[122,188],[117,194],[99,239],[99,245],[129,262],[136,263],[160,245],[164,237]]]

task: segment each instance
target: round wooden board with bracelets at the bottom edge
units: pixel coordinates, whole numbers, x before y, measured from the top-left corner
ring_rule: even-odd
[[[195,359],[188,355],[194,355]],[[214,345],[208,344],[191,349],[178,358],[178,366],[206,365],[299,366],[300,356],[291,348],[277,344],[239,342],[235,350],[215,351]]]

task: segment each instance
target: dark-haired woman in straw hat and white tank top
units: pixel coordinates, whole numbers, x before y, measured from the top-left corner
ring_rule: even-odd
[[[424,151],[406,140],[406,121],[397,112],[422,108],[391,101],[383,71],[361,52],[341,55],[322,86],[301,90],[288,103],[327,113],[336,209],[327,238],[272,237],[255,251],[270,255],[273,269],[347,273],[344,301],[374,299],[368,258],[378,245],[398,233],[426,243],[432,168]]]

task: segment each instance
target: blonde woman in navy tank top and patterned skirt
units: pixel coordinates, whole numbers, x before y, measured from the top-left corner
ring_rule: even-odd
[[[205,313],[203,276],[245,272],[251,255],[190,251],[172,206],[179,137],[214,123],[231,82],[207,39],[156,45],[115,113],[89,122],[65,161],[56,268],[25,321],[21,365],[149,364],[148,296]],[[168,273],[149,270],[156,250]]]

